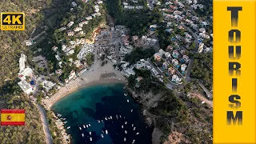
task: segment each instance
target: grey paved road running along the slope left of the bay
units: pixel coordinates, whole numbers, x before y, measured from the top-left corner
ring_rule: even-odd
[[[42,126],[43,126],[44,133],[46,135],[46,144],[53,144],[53,139],[51,138],[51,135],[50,135],[49,124],[46,118],[46,111],[42,108],[42,106],[38,104],[37,106],[42,118]]]

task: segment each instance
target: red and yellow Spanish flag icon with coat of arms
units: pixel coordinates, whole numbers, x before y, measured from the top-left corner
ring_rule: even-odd
[[[25,110],[1,110],[1,126],[24,126]]]

